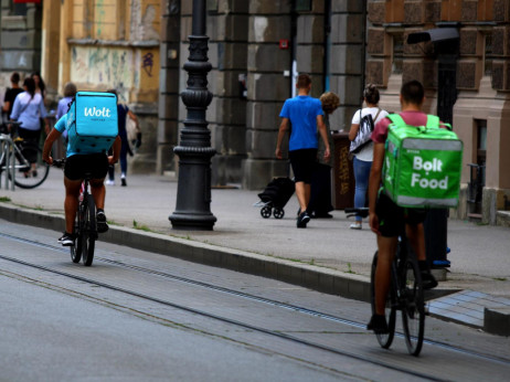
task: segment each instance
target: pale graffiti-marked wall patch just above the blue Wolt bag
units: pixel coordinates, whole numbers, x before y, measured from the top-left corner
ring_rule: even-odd
[[[127,99],[128,91],[139,83],[134,52],[128,49],[73,46],[71,81],[82,87],[115,87]]]

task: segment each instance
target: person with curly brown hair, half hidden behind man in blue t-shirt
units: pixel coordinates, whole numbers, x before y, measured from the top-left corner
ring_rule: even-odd
[[[329,149],[333,149],[333,138],[331,136],[331,127],[329,116],[340,106],[340,98],[332,92],[327,92],[320,96],[322,110],[325,112],[326,135],[328,136]],[[317,132],[319,134],[319,132]],[[331,168],[333,166],[332,156],[325,159],[326,146],[318,137],[317,159],[311,178],[311,195],[308,203],[308,213],[312,219],[331,219],[329,212],[333,210],[331,204]]]

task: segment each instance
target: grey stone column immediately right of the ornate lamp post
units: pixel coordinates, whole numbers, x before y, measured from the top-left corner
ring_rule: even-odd
[[[242,161],[246,158],[246,96],[248,1],[230,0],[209,3],[208,32],[211,43],[210,77],[215,78],[210,114],[212,146],[212,184],[241,183]]]

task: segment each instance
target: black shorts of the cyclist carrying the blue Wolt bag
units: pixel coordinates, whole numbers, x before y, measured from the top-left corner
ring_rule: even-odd
[[[74,155],[65,160],[64,174],[70,180],[104,179],[108,172],[108,157],[104,152]]]

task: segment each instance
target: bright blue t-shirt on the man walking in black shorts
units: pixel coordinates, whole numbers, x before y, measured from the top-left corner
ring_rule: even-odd
[[[322,105],[317,98],[296,96],[285,102],[279,116],[291,124],[289,151],[317,149],[317,116],[322,115]]]

